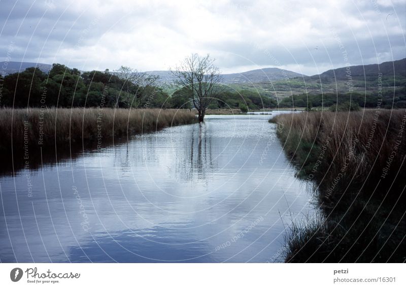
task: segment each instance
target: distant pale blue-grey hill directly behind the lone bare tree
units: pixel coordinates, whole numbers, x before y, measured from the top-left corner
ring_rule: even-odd
[[[170,71],[147,71],[148,74],[158,75],[160,83],[173,83],[175,78]],[[264,68],[251,70],[242,73],[222,74],[222,83],[224,84],[240,84],[240,83],[259,83],[266,81],[277,81],[286,78],[302,77],[296,72],[283,70],[279,68]]]

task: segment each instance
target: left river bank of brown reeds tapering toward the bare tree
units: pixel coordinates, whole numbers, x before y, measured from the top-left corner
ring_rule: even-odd
[[[175,109],[9,109],[0,110],[0,150],[109,141],[167,126],[195,122],[194,113]]]

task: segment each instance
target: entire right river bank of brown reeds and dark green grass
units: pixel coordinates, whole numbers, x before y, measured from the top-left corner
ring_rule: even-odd
[[[405,110],[303,112],[270,120],[322,213],[294,223],[286,262],[406,259]]]

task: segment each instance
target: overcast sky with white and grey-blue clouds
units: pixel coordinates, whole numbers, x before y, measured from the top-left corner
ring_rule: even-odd
[[[209,53],[223,73],[313,75],[406,57],[405,14],[404,0],[0,0],[0,61],[151,71]]]

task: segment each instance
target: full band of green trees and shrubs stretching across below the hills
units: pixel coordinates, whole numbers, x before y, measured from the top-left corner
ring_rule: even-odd
[[[218,74],[218,71],[215,70],[215,73]],[[182,79],[184,75],[179,76]],[[186,75],[188,79],[192,79],[190,76],[191,74]],[[49,73],[31,67],[21,73],[9,74],[2,80],[0,106],[15,108],[98,107],[103,102],[104,107],[111,108],[193,109],[201,106],[204,110],[241,109],[245,112],[278,107],[345,106],[350,101],[352,105],[360,107],[376,107],[378,104],[385,108],[392,108],[392,105],[394,108],[406,107],[405,87],[397,88],[395,91],[385,90],[382,97],[357,92],[351,95],[303,93],[277,101],[274,98],[261,96],[253,90],[232,90],[229,87],[222,87],[218,81],[215,81],[210,97],[199,99],[198,85],[200,90],[207,90],[205,85],[210,82],[207,79],[202,79],[201,83],[199,79],[193,80],[193,87],[185,82],[179,85],[175,92],[169,94],[167,90],[158,86],[157,76],[123,66],[114,72],[109,70],[81,72],[76,68],[55,63]]]

